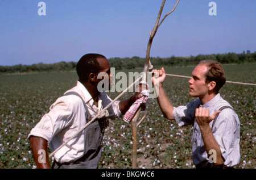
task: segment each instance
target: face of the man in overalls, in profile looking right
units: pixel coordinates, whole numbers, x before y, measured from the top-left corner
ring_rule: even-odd
[[[106,58],[98,58],[97,61],[100,64],[100,69],[101,69],[99,73],[102,73],[105,75],[101,79],[98,79],[98,82],[102,81],[104,78],[108,78],[108,85],[110,90],[112,73],[110,72],[111,66],[109,64],[109,60]]]

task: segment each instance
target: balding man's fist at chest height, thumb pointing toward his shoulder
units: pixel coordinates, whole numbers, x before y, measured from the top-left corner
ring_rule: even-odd
[[[196,108],[196,112],[195,112],[196,122],[199,125],[199,127],[205,127],[206,125],[209,125],[209,123],[220,112],[221,111],[216,111],[212,115],[210,115],[210,112],[207,108],[205,108],[205,107]]]

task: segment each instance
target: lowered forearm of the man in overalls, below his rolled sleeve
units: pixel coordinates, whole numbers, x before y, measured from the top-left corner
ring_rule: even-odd
[[[48,156],[48,141],[42,137],[30,137],[30,145],[36,166],[39,169],[51,169]]]

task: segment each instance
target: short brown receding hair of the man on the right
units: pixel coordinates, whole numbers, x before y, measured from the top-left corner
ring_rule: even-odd
[[[199,62],[199,65],[207,65],[208,71],[205,73],[205,82],[209,83],[211,81],[216,82],[214,87],[214,93],[218,94],[221,87],[226,83],[226,76],[224,69],[222,68],[220,62],[214,60],[203,60]]]

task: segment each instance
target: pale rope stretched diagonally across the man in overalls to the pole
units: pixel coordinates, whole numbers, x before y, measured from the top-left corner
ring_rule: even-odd
[[[143,75],[142,75],[143,76]],[[136,82],[139,81],[139,79],[142,78],[142,76],[140,76],[136,81],[134,81],[133,83],[131,83],[131,85],[129,87],[127,87],[121,94],[119,94],[111,103],[108,104],[108,106],[106,106],[103,110],[101,110],[100,112],[98,112],[98,114],[96,116],[94,116],[94,118],[92,120],[90,120],[88,123],[86,123],[79,131],[77,131],[73,136],[69,137],[69,139],[67,141],[65,141],[65,143],[61,144],[59,146],[59,148],[55,149],[51,154],[49,154],[49,157],[51,158],[58,150],[60,150],[61,148],[63,148],[63,146],[67,145],[69,141],[71,141],[72,139],[74,139],[75,137],[77,137],[79,135],[79,133],[81,133],[82,131],[84,131],[84,129],[86,127],[88,127],[88,125],[92,124],[94,122],[94,120],[96,120],[99,116],[105,115],[105,111],[115,102],[117,101],[117,99],[119,99],[123,94],[126,93],[127,90],[129,90]]]

